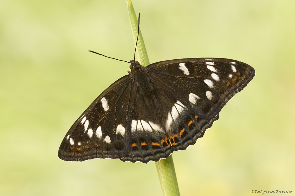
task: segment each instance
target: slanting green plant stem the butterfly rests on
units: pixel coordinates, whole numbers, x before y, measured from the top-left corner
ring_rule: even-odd
[[[131,29],[132,29],[133,42],[135,45],[136,39],[137,39],[138,21],[137,21],[137,15],[135,14],[131,0],[127,0],[127,8],[129,13]],[[142,66],[148,66],[150,64],[148,60],[148,53],[145,49],[145,43],[143,41],[140,30],[139,30],[136,54]],[[163,195],[164,196],[180,196],[172,155],[170,155],[166,159],[161,159],[155,164],[156,164],[160,184],[162,187]]]

